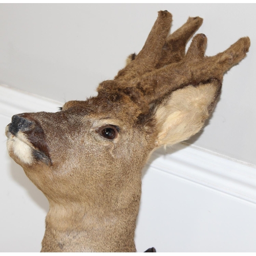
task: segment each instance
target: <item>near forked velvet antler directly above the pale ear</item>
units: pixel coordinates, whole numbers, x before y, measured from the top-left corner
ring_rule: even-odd
[[[144,74],[140,79],[131,81],[131,87],[139,90],[144,100],[151,103],[188,84],[196,85],[211,79],[222,81],[224,73],[239,63],[250,47],[249,37],[243,37],[226,51],[205,57],[206,42],[204,34],[196,35],[181,62]]]

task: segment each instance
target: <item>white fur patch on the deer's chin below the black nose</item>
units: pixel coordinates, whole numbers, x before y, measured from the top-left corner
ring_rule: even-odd
[[[32,164],[32,148],[25,142],[19,140],[15,136],[11,136],[7,140],[7,148],[9,152],[13,152],[15,156],[19,158],[20,161],[25,164]]]

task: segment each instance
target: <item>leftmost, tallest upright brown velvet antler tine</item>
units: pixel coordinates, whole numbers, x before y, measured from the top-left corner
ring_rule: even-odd
[[[155,69],[166,37],[169,33],[171,23],[172,14],[168,11],[158,12],[157,20],[148,35],[142,50],[136,56],[135,60],[118,72],[115,77],[116,81],[129,81]]]

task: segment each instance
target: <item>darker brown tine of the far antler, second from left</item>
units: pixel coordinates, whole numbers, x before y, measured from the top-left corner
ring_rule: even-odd
[[[173,62],[179,62],[185,56],[187,41],[201,27],[203,19],[189,17],[187,22],[167,37],[162,48],[162,53],[156,68],[162,68]]]

